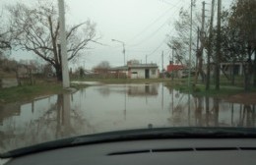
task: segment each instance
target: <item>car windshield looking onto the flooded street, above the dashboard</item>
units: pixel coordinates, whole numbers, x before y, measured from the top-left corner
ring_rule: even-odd
[[[0,6],[0,153],[113,131],[256,127],[255,0]]]

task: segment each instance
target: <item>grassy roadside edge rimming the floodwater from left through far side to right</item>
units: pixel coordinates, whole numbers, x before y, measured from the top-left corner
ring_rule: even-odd
[[[189,88],[187,87],[186,79],[83,79],[72,82],[71,87],[75,89],[84,88],[90,85],[100,85],[104,83],[164,83],[164,86],[168,88],[174,88],[180,92],[187,93]],[[205,90],[204,84],[196,84],[190,88],[190,91],[195,96],[211,96],[226,99],[230,102],[249,102],[256,103],[256,88],[253,88],[249,93],[244,93],[242,87],[222,85],[221,90],[215,90],[214,86],[211,86],[209,91]],[[10,88],[0,89],[0,104],[8,102],[22,102],[31,100],[36,97],[43,97],[52,94],[59,94],[68,92],[62,88],[61,83],[56,82],[38,82],[33,85],[22,85]]]

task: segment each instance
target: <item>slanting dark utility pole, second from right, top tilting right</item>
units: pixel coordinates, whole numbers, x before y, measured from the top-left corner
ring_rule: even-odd
[[[213,53],[213,24],[214,24],[214,14],[215,14],[215,0],[212,0],[212,11],[211,11],[211,20],[210,20],[210,34],[209,34],[209,48],[208,48],[208,55],[207,55],[207,73],[206,73],[206,90],[210,89],[210,58],[212,57]]]

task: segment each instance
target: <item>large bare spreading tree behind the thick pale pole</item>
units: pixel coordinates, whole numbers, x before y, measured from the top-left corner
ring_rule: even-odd
[[[17,3],[8,7],[12,44],[32,51],[51,64],[58,81],[62,81],[57,7],[50,1],[37,3],[34,6]],[[68,27],[66,33],[69,61],[83,55],[90,42],[96,42],[96,24],[90,20]]]

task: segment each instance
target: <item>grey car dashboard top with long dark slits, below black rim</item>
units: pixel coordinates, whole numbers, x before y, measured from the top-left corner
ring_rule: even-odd
[[[255,165],[255,138],[146,139],[59,148],[16,157],[7,165]]]

